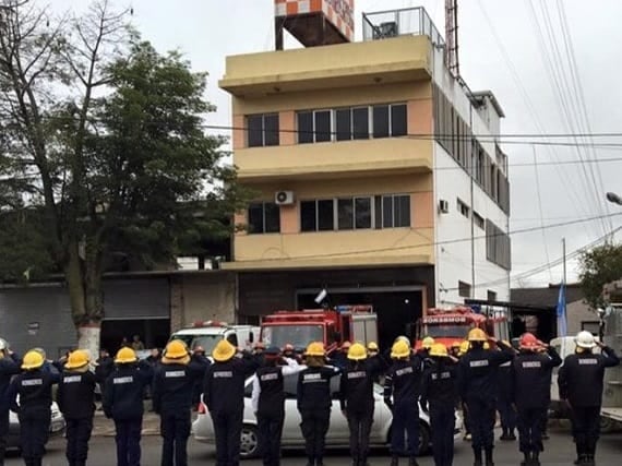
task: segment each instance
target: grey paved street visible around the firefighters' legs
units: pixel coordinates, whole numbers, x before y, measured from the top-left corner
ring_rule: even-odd
[[[499,437],[499,432],[497,433]],[[61,466],[67,462],[63,456],[64,442],[62,440],[55,440],[48,445],[48,455],[44,459],[45,466]],[[574,459],[574,445],[569,437],[567,429],[555,428],[551,429],[551,439],[547,441],[546,447],[548,449],[542,456],[542,464],[547,466],[570,466]],[[115,464],[115,441],[110,437],[96,437],[91,442],[91,457],[88,466],[111,466]],[[156,435],[147,435],[143,439],[143,466],[158,466],[159,465],[159,449],[160,439]],[[518,465],[519,455],[517,452],[516,442],[498,442],[497,466]],[[622,433],[603,435],[599,443],[598,450],[598,465],[613,466],[620,464],[620,455],[622,454]],[[189,449],[191,466],[205,465],[214,463],[213,451],[210,451],[206,445],[199,444],[194,441],[190,442]],[[349,465],[350,459],[345,451],[331,452],[326,458],[326,465]],[[243,463],[247,466],[259,466],[261,462],[249,461]],[[287,452],[285,461],[286,466],[303,466],[306,458],[301,452]],[[388,457],[386,451],[374,452],[373,457],[370,459],[371,466],[388,465]],[[407,462],[403,461],[403,465]],[[431,457],[423,457],[420,459],[421,466],[432,466],[433,461]],[[456,445],[456,466],[468,466],[471,464],[471,452],[468,443],[459,441]],[[7,461],[8,466],[23,465],[20,457],[12,455]]]

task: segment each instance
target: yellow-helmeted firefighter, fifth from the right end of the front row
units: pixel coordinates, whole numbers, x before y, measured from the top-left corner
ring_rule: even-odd
[[[399,456],[407,455],[409,465],[417,466],[419,450],[419,395],[424,361],[412,355],[410,345],[397,339],[391,348],[393,366],[384,379],[384,403],[393,413],[391,429],[391,466],[397,466]],[[405,447],[404,434],[408,437]]]

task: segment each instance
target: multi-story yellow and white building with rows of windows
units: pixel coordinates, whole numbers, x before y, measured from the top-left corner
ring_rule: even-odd
[[[388,339],[426,307],[509,299],[501,107],[450,74],[423,9],[363,23],[363,41],[227,58],[234,160],[256,194],[224,264],[241,320],[327,288],[373,303]]]

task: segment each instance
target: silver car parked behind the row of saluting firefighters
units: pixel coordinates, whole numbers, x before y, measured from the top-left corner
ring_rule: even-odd
[[[258,455],[258,423],[251,406],[252,381],[250,377],[246,381],[244,389],[244,414],[240,456],[242,458],[251,458]],[[300,414],[296,406],[296,391],[298,386],[298,374],[287,375],[284,379],[284,387],[286,393],[285,401],[285,422],[283,426],[284,449],[301,449],[304,446],[304,440],[300,432]],[[348,445],[349,431],[348,422],[339,408],[338,401],[339,377],[336,375],[331,380],[331,391],[333,393],[333,409],[331,410],[331,427],[326,434],[326,447],[343,447]],[[391,422],[393,416],[386,407],[383,399],[383,387],[374,384],[375,407],[373,411],[373,425],[371,427],[370,445],[386,446],[390,441]],[[456,428],[454,433],[459,435],[462,429],[462,420],[456,415]],[[201,401],[199,405],[199,414],[196,420],[192,425],[194,440],[211,445],[215,445],[214,426],[212,418],[207,413],[207,407]],[[426,413],[419,409],[419,452],[426,454],[430,451],[430,418]]]

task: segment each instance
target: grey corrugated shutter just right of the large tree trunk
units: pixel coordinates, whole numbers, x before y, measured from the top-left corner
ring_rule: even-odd
[[[106,280],[104,303],[106,320],[169,319],[168,278]]]

